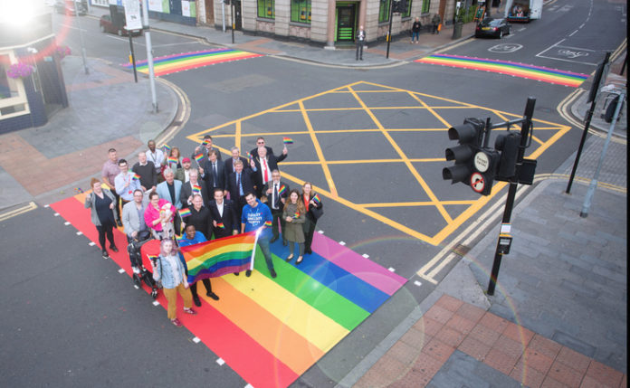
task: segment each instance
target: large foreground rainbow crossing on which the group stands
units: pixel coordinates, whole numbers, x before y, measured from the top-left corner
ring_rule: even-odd
[[[83,207],[85,195],[51,207],[98,244],[90,211]],[[123,232],[115,230],[114,239],[125,246]],[[315,233],[312,248],[314,253],[298,266],[295,260],[282,260],[288,249],[280,241],[273,243],[275,279],[258,250],[250,278],[228,274],[212,279],[220,299],[205,297],[202,287],[199,296],[205,303],[198,314],[181,314],[179,319],[247,383],[257,388],[290,385],[406,283],[320,233]],[[110,252],[111,259],[131,276],[123,251]],[[148,295],[138,298],[150,300]],[[166,308],[161,292],[157,301]]]

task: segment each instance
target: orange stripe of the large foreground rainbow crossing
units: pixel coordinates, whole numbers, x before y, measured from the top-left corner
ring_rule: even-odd
[[[240,278],[243,279],[238,280],[249,279],[244,276]],[[199,292],[199,295],[296,374],[306,372],[324,355],[320,348],[284,325],[280,319],[224,279],[213,278],[212,289],[220,296],[219,300],[205,297],[204,292]]]

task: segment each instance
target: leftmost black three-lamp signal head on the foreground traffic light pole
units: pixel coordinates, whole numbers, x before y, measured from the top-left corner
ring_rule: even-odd
[[[458,140],[457,147],[446,148],[446,160],[454,160],[455,166],[442,170],[444,180],[451,179],[452,184],[463,182],[468,185],[472,174],[472,158],[481,146],[485,123],[480,118],[465,118],[463,125],[448,129],[448,138]]]

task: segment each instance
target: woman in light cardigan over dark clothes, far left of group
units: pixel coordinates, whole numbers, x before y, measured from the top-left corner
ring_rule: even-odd
[[[91,221],[99,231],[99,243],[102,250],[103,259],[108,259],[110,255],[105,249],[105,236],[110,241],[110,250],[118,251],[114,243],[114,225],[118,219],[118,210],[116,209],[116,198],[111,194],[110,190],[100,187],[100,180],[92,178],[90,181],[92,192],[85,196],[85,208],[91,209]]]

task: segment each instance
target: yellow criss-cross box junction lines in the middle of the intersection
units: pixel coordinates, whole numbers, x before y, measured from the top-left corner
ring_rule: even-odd
[[[417,102],[416,105],[405,104],[404,106],[370,106],[369,102],[366,102],[366,98],[369,95],[374,95],[378,93],[404,93],[408,96],[412,101]],[[305,104],[308,101],[313,99],[327,98],[333,95],[348,95],[350,96],[355,106],[351,107],[343,107],[343,106],[333,106],[330,108],[307,108],[308,104]],[[363,97],[365,96],[365,97]],[[334,103],[332,104],[334,105]],[[406,109],[413,111],[414,109],[422,110],[424,112],[429,113],[433,118],[435,118],[439,123],[443,124],[444,127],[435,127],[435,123],[433,123],[432,127],[428,128],[386,128],[384,124],[377,118],[376,113],[378,111],[387,111],[391,109]],[[196,134],[190,135],[187,138],[199,143],[205,135],[212,135],[213,139],[215,139],[215,147],[221,149],[227,155],[230,155],[229,148],[233,145],[239,147],[242,150],[242,154],[244,153],[243,144],[251,145],[255,143],[256,137],[265,137],[268,140],[272,137],[291,137],[294,135],[305,135],[310,140],[312,147],[316,154],[317,160],[296,160],[296,157],[299,155],[291,154],[290,160],[284,161],[281,163],[281,166],[320,166],[321,171],[325,177],[326,185],[324,187],[320,187],[318,185],[314,185],[314,189],[320,195],[324,195],[329,200],[336,201],[345,206],[348,206],[359,213],[363,213],[369,217],[376,219],[377,221],[384,222],[387,225],[395,228],[399,232],[406,233],[412,237],[415,237],[419,240],[426,241],[433,245],[439,245],[444,241],[446,237],[448,237],[452,232],[454,232],[457,228],[459,228],[463,222],[466,222],[474,213],[477,213],[482,209],[482,207],[488,203],[497,193],[501,191],[503,187],[507,184],[504,182],[499,182],[492,187],[492,194],[489,196],[482,196],[478,199],[467,199],[467,200],[444,200],[439,198],[439,194],[435,194],[434,190],[431,188],[431,183],[427,182],[425,178],[418,172],[417,168],[413,165],[418,162],[429,162],[436,163],[444,161],[444,157],[435,158],[435,157],[408,157],[400,145],[396,142],[396,139],[392,137],[392,134],[395,133],[416,133],[418,136],[422,136],[423,133],[435,133],[435,132],[446,132],[448,128],[452,127],[452,123],[448,121],[446,117],[444,117],[445,113],[452,113],[458,109],[479,109],[482,110],[482,115],[493,114],[496,117],[502,120],[509,120],[510,118],[520,118],[521,115],[513,114],[509,112],[504,112],[498,109],[490,109],[478,105],[474,105],[467,102],[461,102],[454,99],[446,99],[443,97],[438,97],[434,95],[429,95],[413,90],[404,90],[400,88],[390,87],[386,85],[380,85],[373,82],[367,81],[357,81],[350,83],[348,85],[340,86],[339,88],[335,88],[332,90],[322,91],[320,93],[314,94],[312,96],[297,99],[291,102],[284,103],[272,109],[262,110],[261,112],[254,113],[252,115],[237,118],[231,121],[228,121],[224,124],[218,125],[214,128],[208,128],[204,131],[198,132]],[[326,113],[326,112],[339,112],[339,111],[348,111],[351,112],[361,112],[365,113],[367,117],[370,119],[372,123],[372,127],[370,128],[348,128],[348,129],[320,129],[313,128],[313,124],[311,122],[310,115],[314,112]],[[444,113],[445,112],[445,113]],[[247,120],[251,120],[253,118],[260,118],[266,114],[298,114],[303,120],[303,128],[300,130],[295,130],[291,128],[281,129],[281,130],[270,130],[270,131],[250,131],[248,133],[243,133],[243,122]],[[469,115],[470,116],[470,115]],[[531,152],[528,157],[537,158],[542,153],[547,150],[552,144],[554,144],[560,137],[570,130],[571,127],[556,123],[551,123],[549,121],[540,120],[534,118],[534,126],[536,129],[536,134],[539,134],[540,130],[544,131],[553,131],[553,134],[547,139],[541,139],[539,137],[532,137],[532,147]],[[457,124],[457,123],[455,123]],[[421,126],[421,124],[419,124]],[[295,127],[298,127],[297,125]],[[518,126],[515,126],[512,129],[520,129]],[[225,133],[227,132],[227,133]],[[362,159],[354,159],[354,160],[331,160],[325,156],[325,153],[322,150],[320,145],[320,139],[328,134],[350,134],[350,133],[374,133],[380,134],[386,139],[387,147],[391,147],[397,157],[389,157],[389,158],[362,158]],[[444,133],[444,139],[446,139],[446,134]],[[231,144],[229,141],[221,141],[220,139],[233,140],[234,144]],[[219,147],[217,144],[228,145],[226,147]],[[446,143],[444,143],[446,144]],[[386,203],[358,203],[353,198],[344,197],[338,192],[338,185],[335,183],[333,179],[333,175],[330,172],[330,166],[339,166],[339,165],[354,165],[357,168],[361,168],[361,165],[364,164],[398,164],[401,166],[406,166],[406,169],[414,178],[413,185],[417,185],[423,193],[426,194],[428,200],[426,201],[406,201],[406,202],[396,202],[394,198],[391,202]],[[442,166],[435,166],[435,168],[441,168]],[[290,180],[293,183],[298,185],[302,185],[305,180],[301,179],[299,176],[294,176],[288,174],[286,171],[282,171],[282,176],[284,179]],[[463,187],[461,190],[465,190]],[[444,206],[446,205],[464,205],[465,209],[456,214],[454,217],[447,213]],[[398,220],[391,219],[386,215],[379,213],[379,208],[419,208],[419,207],[430,207],[433,208],[441,217],[443,217],[445,226],[439,230],[435,230],[433,233],[419,232],[414,228],[409,227]]]

